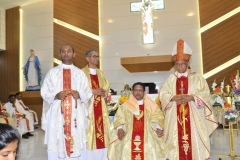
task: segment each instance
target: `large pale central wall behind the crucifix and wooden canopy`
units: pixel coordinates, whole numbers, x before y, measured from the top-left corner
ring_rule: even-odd
[[[165,0],[164,10],[153,11],[155,44],[149,45],[142,44],[141,13],[130,12],[130,2],[134,0],[99,1],[101,69],[111,88],[120,91],[123,83],[132,85],[139,81],[155,82],[160,88],[174,68],[130,73],[121,66],[120,58],[171,55],[180,38],[193,50],[191,68],[202,74],[198,0]]]

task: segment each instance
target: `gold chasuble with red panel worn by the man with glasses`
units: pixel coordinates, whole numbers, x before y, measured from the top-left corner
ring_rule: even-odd
[[[106,95],[108,95],[110,83],[101,70],[96,69],[97,74],[91,75],[88,66],[86,66],[82,71],[88,78],[90,88],[103,88]],[[110,121],[104,97],[93,96],[89,101],[88,111],[87,149],[107,148],[109,143]]]

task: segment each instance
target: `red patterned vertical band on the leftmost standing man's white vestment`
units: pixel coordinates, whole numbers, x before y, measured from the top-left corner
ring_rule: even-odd
[[[63,91],[71,91],[71,70],[63,69]],[[62,101],[62,114],[64,118],[65,145],[68,157],[73,153],[73,138],[71,136],[71,118],[72,118],[72,95]]]

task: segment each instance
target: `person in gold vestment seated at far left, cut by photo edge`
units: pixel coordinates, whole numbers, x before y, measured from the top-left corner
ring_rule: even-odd
[[[10,117],[10,115],[7,113],[6,108],[2,106],[1,102],[0,102],[0,123],[9,124],[13,127],[16,127],[15,120]]]

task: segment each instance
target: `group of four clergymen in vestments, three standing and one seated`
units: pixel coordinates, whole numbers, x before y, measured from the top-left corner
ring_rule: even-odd
[[[71,45],[60,48],[62,64],[50,69],[41,87],[42,129],[49,160],[206,160],[217,128],[205,79],[190,69],[191,48],[180,39],[172,51],[176,72],[162,86],[161,108],[136,82],[118,104],[110,130],[106,97],[110,83],[97,68],[73,65]],[[141,81],[141,80],[139,80]],[[31,131],[31,129],[30,129]]]

